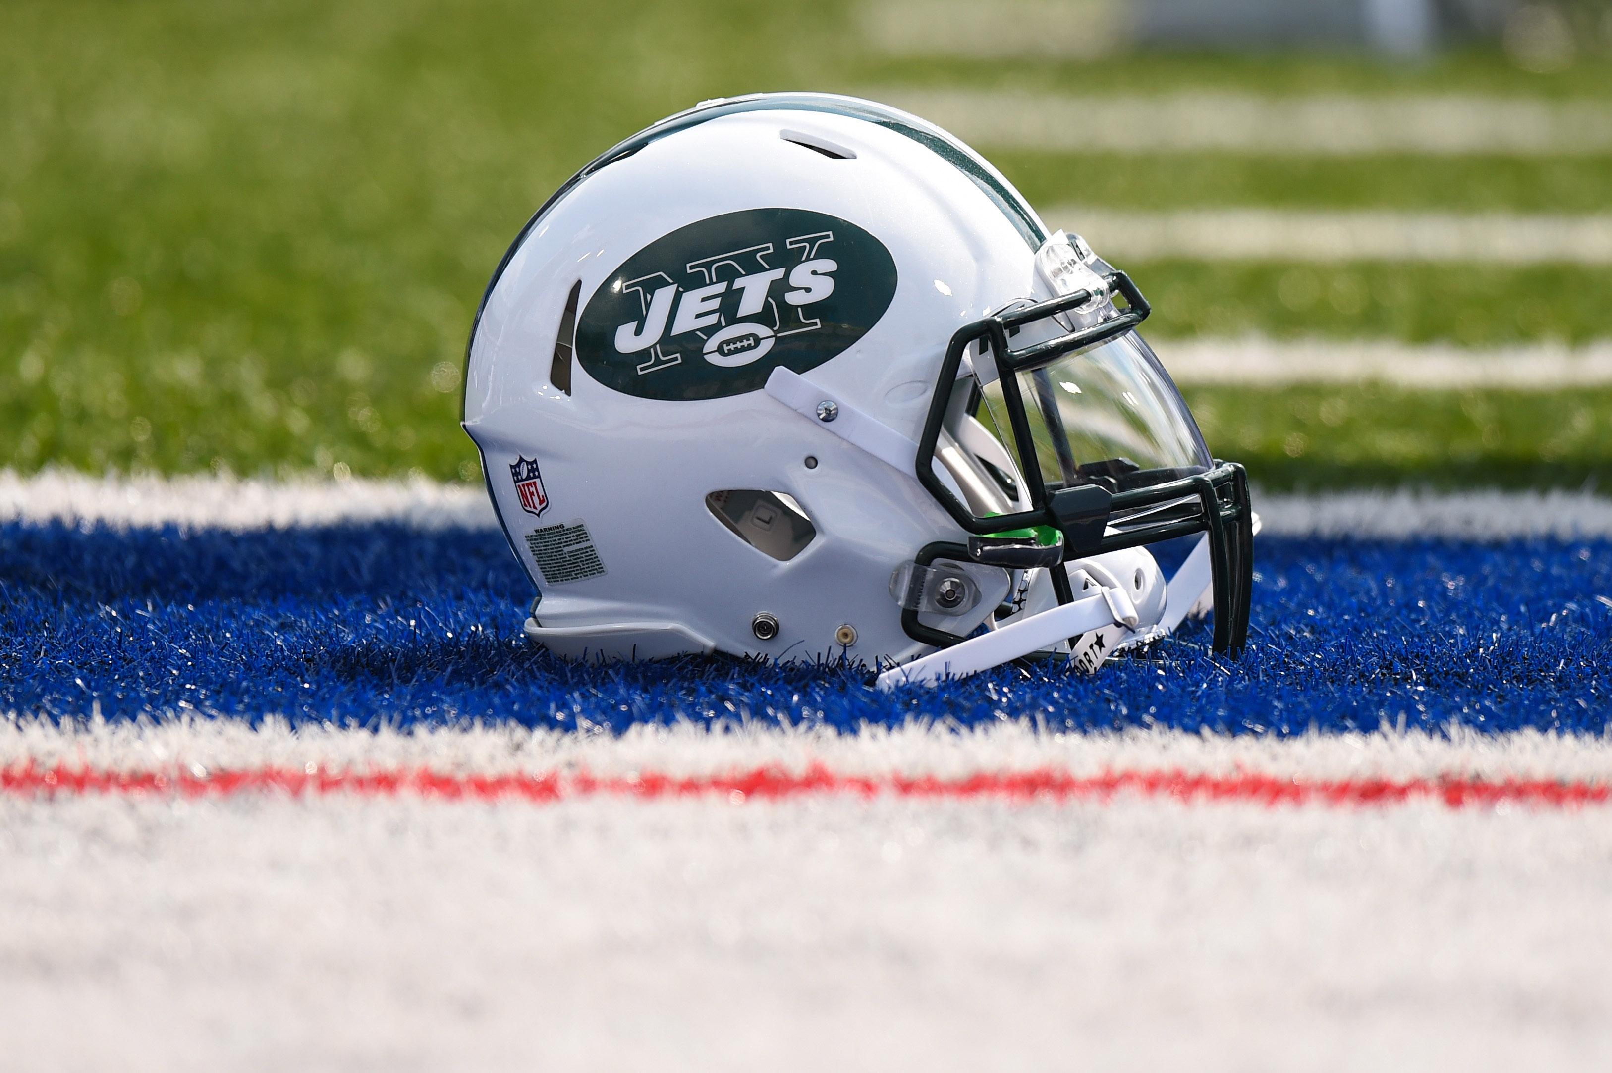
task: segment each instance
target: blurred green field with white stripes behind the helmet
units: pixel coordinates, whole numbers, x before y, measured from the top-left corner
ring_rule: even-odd
[[[1246,50],[1116,29],[1116,10],[1145,8],[10,0],[0,469],[476,480],[456,424],[463,346],[526,218],[667,113],[817,89],[951,113],[929,118],[1132,272],[1167,364],[1246,340],[1472,356],[1472,377],[1431,385],[1393,369],[1183,375],[1211,446],[1262,487],[1612,485],[1612,372],[1585,358],[1612,340],[1602,8],[1493,3],[1483,32],[1443,42]],[[1206,148],[1135,121],[1165,98],[1211,118],[1332,102],[1367,116],[1367,135],[1443,102],[1478,134],[1454,150],[1415,137]],[[1004,100],[1054,130],[1074,113],[1124,137],[1037,148],[993,119]],[[1172,251],[1182,221],[1225,209],[1275,227],[1273,245]],[[1340,213],[1390,238],[1406,221],[1467,238],[1285,251],[1285,235]],[[1361,234],[1362,219],[1335,230]],[[1512,234],[1544,238],[1525,258],[1481,251]],[[1519,377],[1557,351],[1568,374]],[[1481,372],[1498,366],[1510,374]]]

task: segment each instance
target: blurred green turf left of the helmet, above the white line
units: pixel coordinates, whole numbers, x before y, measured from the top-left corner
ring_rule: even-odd
[[[459,362],[516,230],[669,111],[812,84],[822,11],[0,6],[0,466],[474,477]]]

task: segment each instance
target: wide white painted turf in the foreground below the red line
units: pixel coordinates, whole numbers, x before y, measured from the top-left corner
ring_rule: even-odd
[[[0,846],[19,1070],[1612,1060],[1604,807],[13,798]]]

